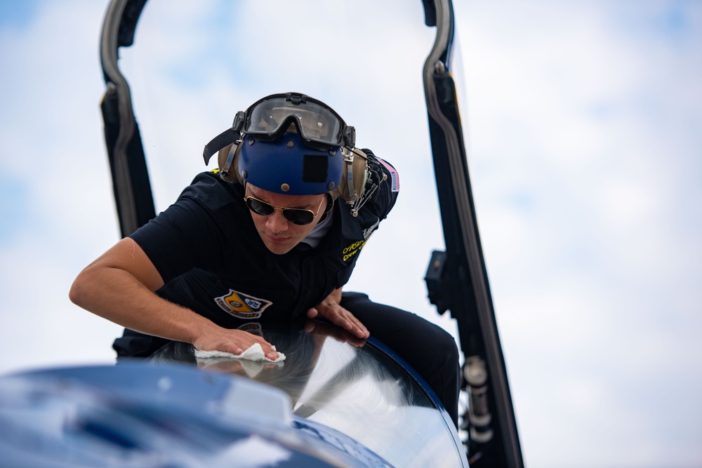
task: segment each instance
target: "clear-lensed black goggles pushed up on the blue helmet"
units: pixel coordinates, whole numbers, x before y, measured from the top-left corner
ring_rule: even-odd
[[[277,139],[291,124],[305,146],[351,149],[355,145],[355,128],[347,126],[324,102],[300,93],[272,94],[254,102],[246,111],[237,112],[232,130],[266,141]]]

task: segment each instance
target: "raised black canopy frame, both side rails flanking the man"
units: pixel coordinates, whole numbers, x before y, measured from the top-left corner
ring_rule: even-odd
[[[102,98],[105,144],[122,236],[156,215],[150,178],[128,83],[119,70],[119,48],[133,44],[147,0],[111,0],[102,25],[100,62],[107,90]],[[423,81],[432,156],[446,251],[432,253],[425,280],[439,313],[451,311],[466,360],[484,365],[486,381],[470,387],[471,405],[481,414],[482,441],[471,438],[473,467],[521,468],[504,355],[480,243],[468,175],[456,86],[451,76],[454,15],[451,0],[422,0],[425,24],[435,26],[435,43],[425,61]],[[496,415],[493,419],[491,415]],[[470,415],[466,415],[469,417]],[[475,415],[474,415],[475,416]],[[486,432],[487,431],[487,432]],[[485,436],[485,434],[490,434]]]

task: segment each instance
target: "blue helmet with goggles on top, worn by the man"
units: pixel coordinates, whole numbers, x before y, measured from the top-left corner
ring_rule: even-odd
[[[307,95],[283,93],[237,112],[232,128],[206,145],[204,157],[207,162],[220,149],[225,180],[279,194],[324,194],[340,187],[345,166],[352,166],[357,153],[354,145],[354,128],[331,107]]]

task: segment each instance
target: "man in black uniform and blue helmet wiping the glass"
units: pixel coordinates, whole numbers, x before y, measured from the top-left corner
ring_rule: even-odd
[[[77,305],[126,327],[118,356],[168,340],[241,354],[251,323],[322,318],[372,333],[408,361],[457,421],[458,351],[442,328],[366,295],[342,293],[359,253],[395,205],[397,171],[355,148],[355,130],[323,102],[267,96],[205,147],[219,170],[77,276]]]

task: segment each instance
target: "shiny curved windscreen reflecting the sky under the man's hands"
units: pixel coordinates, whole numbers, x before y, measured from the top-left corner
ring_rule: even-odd
[[[285,361],[196,359],[192,345],[180,342],[152,359],[190,362],[282,389],[290,396],[293,419],[304,422],[303,430],[308,424],[324,424],[397,467],[462,465],[450,420],[377,342],[358,342],[318,321],[286,330],[266,328],[262,334],[286,355]]]

